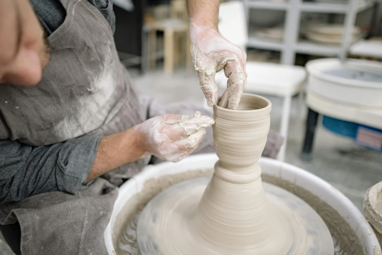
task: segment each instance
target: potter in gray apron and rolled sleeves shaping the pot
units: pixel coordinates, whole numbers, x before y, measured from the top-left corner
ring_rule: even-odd
[[[47,42],[40,32],[28,35],[39,30],[28,0],[0,7],[0,230],[17,255],[104,255],[117,187],[150,161],[213,152],[213,120],[202,107],[137,95],[105,15],[111,1],[100,0],[101,8],[97,0],[55,1],[65,15]],[[191,55],[201,88],[217,104],[213,77],[225,68],[219,104],[234,109],[246,83],[245,53],[217,33],[218,1],[197,2],[189,0]],[[20,38],[5,40],[9,27],[21,27]],[[20,45],[8,56],[4,42]],[[265,153],[276,157],[282,140],[271,132]]]

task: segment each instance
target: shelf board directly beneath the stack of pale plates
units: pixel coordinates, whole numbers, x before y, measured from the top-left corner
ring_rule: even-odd
[[[337,56],[341,50],[339,45],[318,44],[310,41],[300,41],[295,45],[297,53],[313,54],[319,56]]]

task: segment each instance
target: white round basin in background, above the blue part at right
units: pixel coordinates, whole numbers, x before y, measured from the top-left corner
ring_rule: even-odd
[[[347,70],[346,77],[328,74],[330,70]],[[365,75],[382,74],[382,64],[377,61],[327,58],[309,61],[306,64],[309,73],[308,89],[318,95],[345,104],[382,108],[381,81],[362,81],[351,74],[363,72]]]

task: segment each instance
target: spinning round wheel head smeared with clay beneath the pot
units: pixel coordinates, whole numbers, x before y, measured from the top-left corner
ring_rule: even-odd
[[[263,187],[269,213],[279,214],[271,222],[272,227],[279,230],[272,237],[275,240],[268,240],[248,250],[234,250],[232,245],[227,244],[226,252],[216,251],[213,244],[203,239],[203,233],[197,233],[193,222],[209,180],[195,178],[179,183],[162,191],[149,202],[137,227],[141,255],[334,254],[331,234],[318,213],[291,192],[265,182]],[[235,236],[232,242],[245,242],[245,236]]]

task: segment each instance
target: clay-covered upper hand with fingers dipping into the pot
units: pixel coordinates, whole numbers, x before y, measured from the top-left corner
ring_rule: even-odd
[[[191,57],[208,106],[236,109],[247,83],[247,55],[210,26],[190,25]],[[215,74],[224,68],[227,90],[219,102]]]

